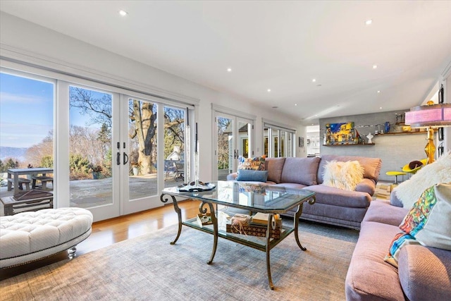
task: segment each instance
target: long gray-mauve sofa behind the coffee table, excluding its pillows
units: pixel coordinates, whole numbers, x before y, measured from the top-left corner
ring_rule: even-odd
[[[341,190],[322,185],[323,171],[327,161],[357,160],[364,167],[364,180],[355,191]],[[325,155],[313,158],[267,158],[267,184],[285,188],[305,188],[316,192],[316,203],[304,206],[301,219],[319,221],[335,226],[359,229],[381,171],[381,159],[363,156]],[[235,180],[237,173],[230,173],[228,180]],[[294,215],[294,212],[289,212]]]

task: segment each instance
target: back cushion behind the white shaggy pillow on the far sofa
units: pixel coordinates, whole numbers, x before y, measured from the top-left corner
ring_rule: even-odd
[[[379,173],[381,171],[382,161],[379,158],[369,158],[364,156],[338,156],[334,154],[326,154],[321,156],[321,162],[319,163],[317,180],[318,184],[323,183],[324,166],[327,161],[359,161],[360,165],[364,167],[364,178],[369,178],[377,181]]]

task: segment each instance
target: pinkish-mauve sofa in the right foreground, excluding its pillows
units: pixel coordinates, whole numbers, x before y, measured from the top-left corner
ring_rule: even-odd
[[[451,251],[407,245],[398,269],[383,261],[408,211],[371,202],[347,271],[347,300],[451,300]]]

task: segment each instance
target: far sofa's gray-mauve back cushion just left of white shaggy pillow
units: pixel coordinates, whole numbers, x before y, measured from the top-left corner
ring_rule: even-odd
[[[319,157],[285,158],[280,183],[316,185],[316,173],[320,160]]]

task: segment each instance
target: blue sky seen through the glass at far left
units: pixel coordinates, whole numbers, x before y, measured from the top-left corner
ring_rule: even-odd
[[[87,116],[70,109],[70,123]],[[0,73],[0,146],[31,147],[54,128],[54,84]]]

